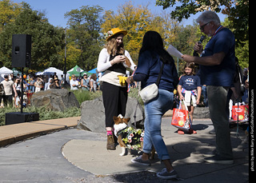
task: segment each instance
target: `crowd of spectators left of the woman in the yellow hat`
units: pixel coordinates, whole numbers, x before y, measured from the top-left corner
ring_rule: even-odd
[[[35,75],[24,74],[23,75],[23,105],[30,105],[30,98],[34,93],[42,90],[51,89],[70,89],[70,90],[87,90],[95,92],[100,90],[98,76],[100,74],[92,74],[87,76],[84,74],[82,77],[75,77],[72,75],[70,81],[65,83],[64,76],[54,73],[53,75]],[[74,86],[75,83],[75,86]],[[21,105],[22,97],[22,75],[21,74],[5,74],[2,76],[2,82],[0,84],[0,106],[6,107]]]

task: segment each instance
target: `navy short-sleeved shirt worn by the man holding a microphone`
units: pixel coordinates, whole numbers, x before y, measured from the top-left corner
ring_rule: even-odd
[[[218,66],[200,65],[201,84],[206,86],[234,86],[235,54],[234,34],[227,28],[222,28],[207,43],[202,51],[202,57],[224,52],[226,55]]]

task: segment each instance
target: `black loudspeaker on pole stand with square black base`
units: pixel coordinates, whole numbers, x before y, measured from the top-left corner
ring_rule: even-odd
[[[31,60],[31,35],[13,34],[11,66],[22,68],[21,112],[6,113],[6,125],[39,120],[39,113],[23,113],[23,93],[24,93],[23,69],[24,67],[30,67],[30,60]]]

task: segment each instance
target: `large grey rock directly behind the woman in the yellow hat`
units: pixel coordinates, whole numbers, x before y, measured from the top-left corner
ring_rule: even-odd
[[[81,119],[78,129],[86,129],[93,132],[106,132],[105,109],[102,97],[93,101],[83,101],[81,105]],[[128,97],[126,105],[126,116],[130,117],[130,124],[139,123],[144,120],[142,105],[135,98]]]

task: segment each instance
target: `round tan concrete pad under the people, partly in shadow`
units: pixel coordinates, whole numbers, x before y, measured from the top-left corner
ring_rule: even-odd
[[[245,138],[242,130],[239,131],[240,137],[237,138],[235,129],[232,129],[234,165],[213,165],[203,161],[203,153],[214,150],[214,135],[209,133],[210,129],[213,129],[211,122],[209,120],[194,121],[194,129],[198,134],[179,135],[176,133],[177,129],[170,126],[170,120],[170,117],[163,118],[162,135],[179,177],[190,182],[201,182],[206,177],[211,177],[213,182],[229,182],[230,177],[236,182],[248,180],[248,144],[242,144],[242,139]],[[158,160],[147,168],[135,166],[130,160],[136,153],[134,152],[134,156],[120,157],[121,151],[119,146],[115,151],[106,150],[105,139],[94,142],[82,139],[71,140],[62,149],[63,155],[73,165],[98,176],[141,171],[156,173],[164,168]],[[214,175],[218,176],[214,177]]]

